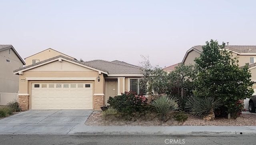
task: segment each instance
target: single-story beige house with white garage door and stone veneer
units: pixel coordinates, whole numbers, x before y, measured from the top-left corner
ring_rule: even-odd
[[[20,77],[19,104],[23,110],[90,110],[108,105],[109,96],[125,91],[146,95],[138,83],[141,69],[122,61],[80,62],[59,55],[17,69],[14,74]]]

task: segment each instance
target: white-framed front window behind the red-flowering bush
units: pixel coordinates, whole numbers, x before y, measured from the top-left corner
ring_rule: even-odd
[[[130,79],[130,90],[137,94],[146,95],[146,84],[142,85],[139,83],[140,79]]]

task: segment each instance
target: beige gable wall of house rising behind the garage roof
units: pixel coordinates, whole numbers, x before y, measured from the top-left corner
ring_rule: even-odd
[[[55,50],[53,50],[53,49],[46,49],[46,50],[44,50],[44,51],[42,51],[42,52],[40,52],[40,53],[37,53],[37,54],[32,55],[32,56],[30,56],[30,57],[27,57],[27,58],[25,59],[26,66],[32,65],[33,60],[44,61],[44,60],[46,60],[46,59],[50,59],[50,58],[56,57],[56,56],[58,56],[58,55],[62,55],[62,56],[64,56],[64,57],[68,57],[68,58],[70,58],[70,59],[73,59],[72,57],[70,57],[70,56],[68,56],[68,55],[64,55],[64,54],[62,54],[62,53],[60,53],[60,52],[58,52],[58,51],[55,51]]]

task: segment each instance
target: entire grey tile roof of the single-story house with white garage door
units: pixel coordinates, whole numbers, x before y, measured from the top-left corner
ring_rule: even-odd
[[[56,57],[53,57],[50,59],[46,59],[44,61],[40,61],[38,63],[28,65],[26,67],[22,67],[20,69],[15,70],[14,73],[18,74],[19,71],[22,71],[22,70],[26,71],[30,67],[32,68],[36,65],[40,66],[40,64],[42,65],[43,63],[52,61],[54,59],[58,59],[60,57],[63,59],[67,59],[69,61],[75,62],[75,63],[79,63],[79,64],[87,66],[87,67],[97,69],[99,71],[103,71],[103,73],[105,72],[106,74],[140,74],[141,73],[141,69],[138,67],[132,67],[132,66],[128,66],[128,65],[122,65],[122,64],[112,63],[110,61],[103,61],[103,60],[80,62],[80,61],[77,61],[74,59],[70,59],[68,57],[64,57],[62,55],[59,55],[59,56],[56,56]]]

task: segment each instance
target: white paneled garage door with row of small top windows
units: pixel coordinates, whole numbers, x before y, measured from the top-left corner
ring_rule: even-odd
[[[31,109],[93,109],[92,83],[32,83]]]

